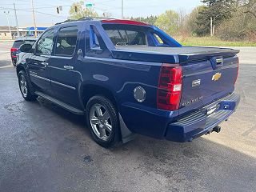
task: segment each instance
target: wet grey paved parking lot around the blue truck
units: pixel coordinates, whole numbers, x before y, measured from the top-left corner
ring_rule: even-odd
[[[25,102],[0,42],[0,191],[256,191],[256,48],[241,48],[242,101],[220,134],[98,146],[82,116]]]

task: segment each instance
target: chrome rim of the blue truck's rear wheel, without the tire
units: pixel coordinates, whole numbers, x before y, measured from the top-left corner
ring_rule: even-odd
[[[109,111],[101,104],[94,104],[90,108],[90,126],[98,138],[106,141],[112,132],[112,121]]]

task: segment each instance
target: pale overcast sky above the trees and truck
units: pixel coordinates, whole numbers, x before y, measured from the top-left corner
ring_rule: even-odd
[[[18,26],[31,26],[33,23],[31,0],[0,0],[0,26],[7,26],[4,11],[9,11],[10,26],[15,26],[14,5],[18,15]],[[38,26],[44,23],[62,22],[69,15],[70,6],[75,0],[34,0],[35,17]],[[122,0],[91,0],[94,10],[101,14],[109,12],[113,18],[121,18]],[[124,0],[124,16],[138,17],[162,14],[165,10],[182,10],[190,13],[195,6],[200,5],[200,0]],[[57,14],[56,7],[62,6],[61,14]]]

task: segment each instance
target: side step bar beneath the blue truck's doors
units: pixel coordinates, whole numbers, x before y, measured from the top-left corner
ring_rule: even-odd
[[[35,91],[34,94],[36,94],[42,98],[45,98],[46,100],[53,102],[54,104],[61,106],[62,108],[66,109],[66,110],[69,110],[71,113],[85,114],[84,111],[78,110],[77,108],[74,108],[73,106],[70,106],[70,105],[66,104],[65,102],[61,102],[56,98],[52,98],[48,94],[43,94],[42,92],[39,92],[39,91]]]

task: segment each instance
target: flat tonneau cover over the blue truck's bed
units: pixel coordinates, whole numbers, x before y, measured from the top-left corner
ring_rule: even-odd
[[[216,56],[222,56],[224,58],[232,57],[238,54],[239,50],[202,46],[116,46],[116,50],[112,50],[112,52],[114,54],[114,58],[120,59],[134,59],[139,61],[146,59],[150,60],[149,62],[182,63],[205,60]]]

